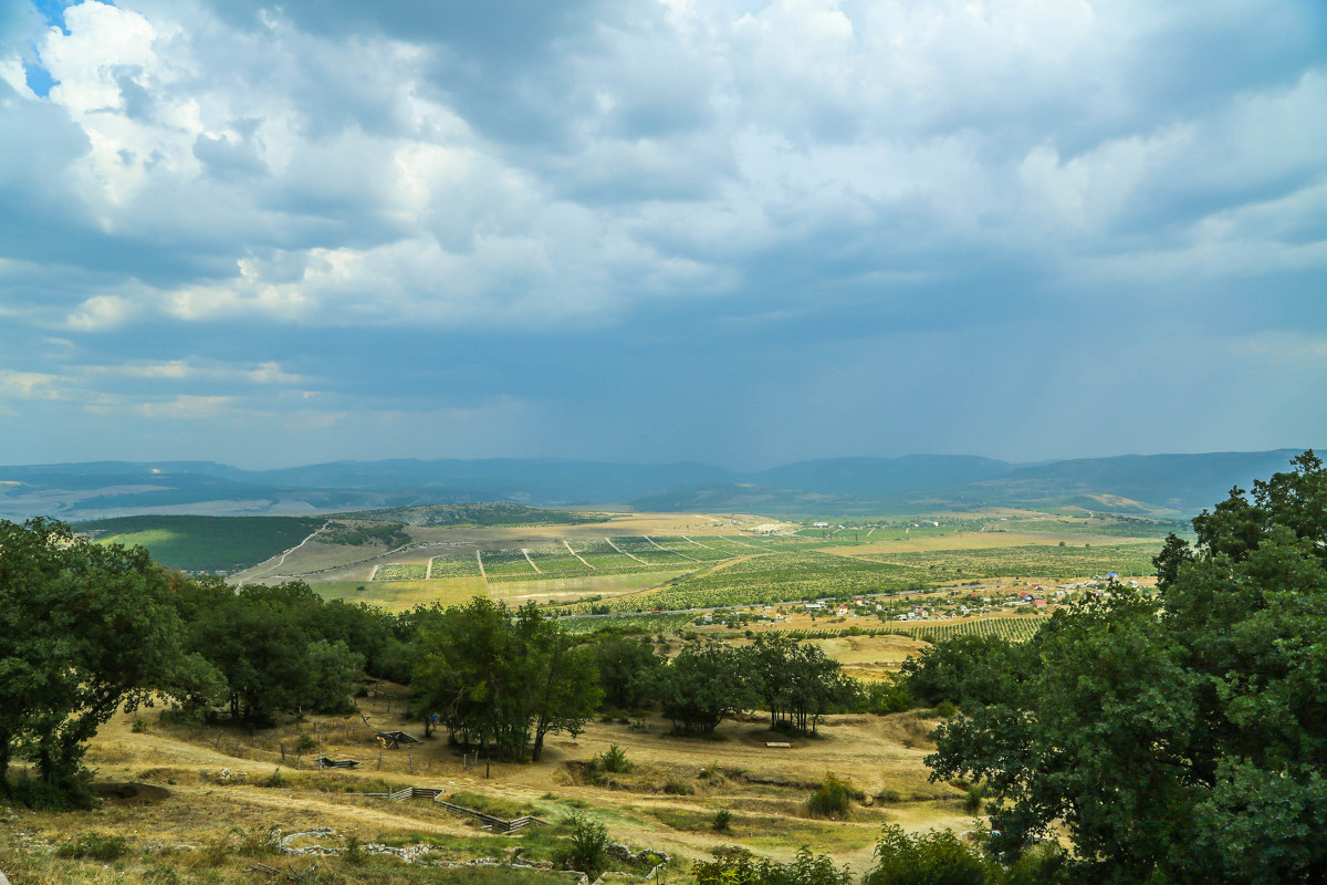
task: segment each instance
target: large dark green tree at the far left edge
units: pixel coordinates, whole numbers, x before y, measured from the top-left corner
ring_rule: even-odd
[[[186,669],[173,576],[141,547],[0,520],[0,776],[15,747],[77,792],[86,742]]]

